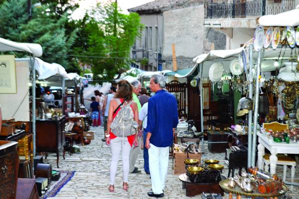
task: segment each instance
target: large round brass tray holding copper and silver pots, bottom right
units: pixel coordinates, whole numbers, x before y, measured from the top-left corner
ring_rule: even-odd
[[[277,196],[281,196],[281,195],[285,194],[288,191],[287,186],[283,185],[283,189],[279,192],[276,192],[276,193],[260,194],[257,191],[255,191],[253,193],[246,193],[246,192],[243,192],[241,190],[241,188],[239,188],[238,186],[236,186],[235,188],[229,188],[227,186],[228,181],[229,181],[228,179],[220,181],[219,186],[225,192],[236,194],[236,195],[241,195],[241,196],[246,196],[246,197],[261,197],[261,198],[277,197]]]

